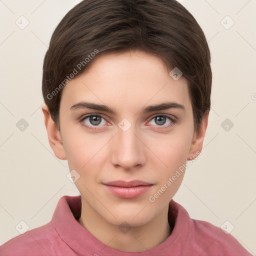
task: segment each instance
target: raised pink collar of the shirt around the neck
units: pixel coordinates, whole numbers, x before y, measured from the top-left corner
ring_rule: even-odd
[[[96,249],[98,255],[104,254],[105,256],[130,256],[135,254],[137,256],[146,256],[149,255],[148,252],[160,256],[182,246],[182,240],[186,239],[188,235],[189,215],[173,199],[170,200],[168,209],[168,222],[172,224],[170,226],[171,234],[162,243],[141,252],[125,252],[105,245],[79,224],[80,214],[81,195],[64,195],[59,199],[51,219],[62,240],[79,255],[83,255],[85,249],[86,251],[95,251]]]

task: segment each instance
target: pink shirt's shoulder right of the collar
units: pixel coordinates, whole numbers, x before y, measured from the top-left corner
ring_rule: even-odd
[[[203,255],[251,256],[233,235],[207,221],[191,219],[196,244],[204,249]]]

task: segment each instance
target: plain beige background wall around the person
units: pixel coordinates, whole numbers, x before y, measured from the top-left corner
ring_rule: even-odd
[[[79,194],[66,177],[67,162],[53,155],[41,111],[42,61],[50,36],[78,2],[0,0],[0,244],[19,234],[15,226],[21,220],[29,229],[43,225],[62,195]],[[217,226],[228,220],[231,234],[255,254],[256,0],[180,2],[205,33],[213,83],[202,154],[174,199],[192,218]],[[23,131],[16,127],[21,118],[28,123]],[[221,126],[226,118],[233,127]]]

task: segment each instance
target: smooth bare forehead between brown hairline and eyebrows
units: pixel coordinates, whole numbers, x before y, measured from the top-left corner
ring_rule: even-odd
[[[84,100],[130,109],[146,102],[190,104],[187,80],[174,80],[161,59],[142,51],[101,55],[65,85],[60,105]]]

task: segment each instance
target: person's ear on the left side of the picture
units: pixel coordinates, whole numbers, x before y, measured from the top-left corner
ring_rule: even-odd
[[[44,124],[47,130],[50,147],[52,148],[57,158],[66,160],[67,158],[60,132],[57,129],[57,125],[53,122],[49,113],[49,109],[45,103],[42,105],[42,112],[44,115]]]

